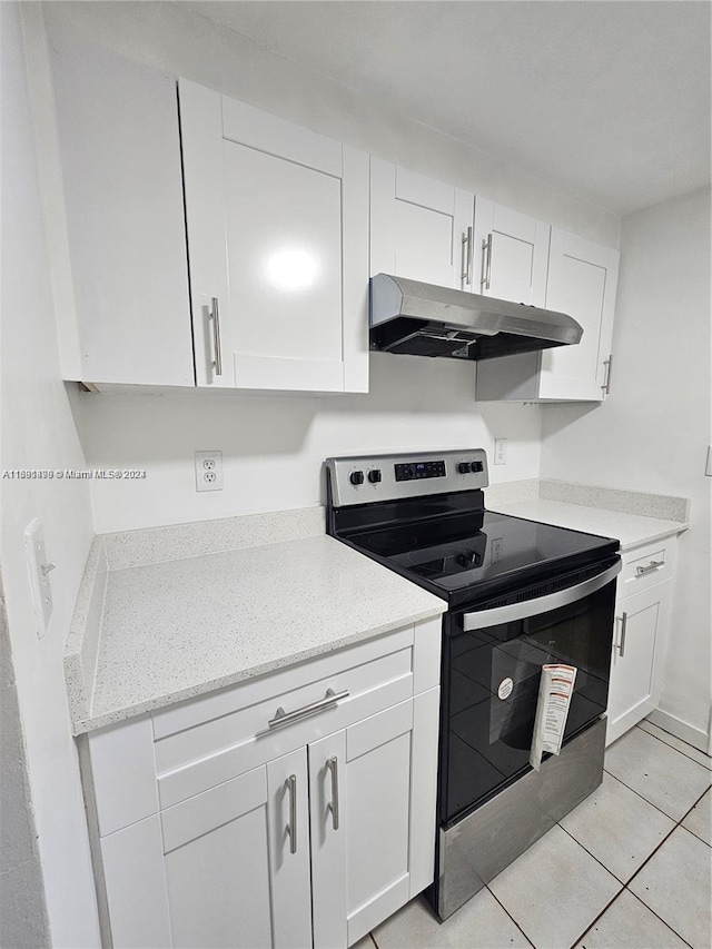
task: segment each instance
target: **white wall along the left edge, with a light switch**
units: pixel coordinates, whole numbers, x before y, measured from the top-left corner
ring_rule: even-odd
[[[55,314],[33,151],[20,4],[1,3],[2,43],[2,468],[83,467],[60,379]],[[96,947],[98,923],[89,847],[62,672],[65,639],[92,536],[81,482],[0,482],[0,561],[30,792],[52,945]],[[23,532],[44,525],[55,613],[38,639]],[[7,814],[3,812],[3,819]],[[41,932],[29,886],[26,938]],[[9,943],[8,943],[9,945]],[[12,945],[22,945],[13,942]]]

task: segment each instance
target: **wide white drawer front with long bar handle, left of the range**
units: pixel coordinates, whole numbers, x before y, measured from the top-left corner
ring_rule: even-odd
[[[329,689],[343,698],[329,702]],[[160,807],[198,794],[412,695],[413,648],[407,645],[161,739],[155,745]],[[301,714],[313,705],[317,705],[313,714]],[[278,709],[284,710],[286,723],[270,728]]]

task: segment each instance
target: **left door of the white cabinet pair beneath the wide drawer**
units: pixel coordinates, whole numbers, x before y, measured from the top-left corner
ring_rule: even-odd
[[[161,822],[176,949],[312,945],[304,749],[169,808]]]

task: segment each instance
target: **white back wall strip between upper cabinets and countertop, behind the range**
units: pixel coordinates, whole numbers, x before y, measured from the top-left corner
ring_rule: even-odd
[[[477,408],[473,368],[456,360],[375,354],[370,369],[368,395],[82,395],[89,466],[147,471],[92,482],[96,531],[320,504],[329,455],[482,446],[492,458],[494,437],[506,437],[507,464],[491,466],[491,481],[538,476],[538,406]],[[225,490],[198,494],[192,453],[214,448]]]

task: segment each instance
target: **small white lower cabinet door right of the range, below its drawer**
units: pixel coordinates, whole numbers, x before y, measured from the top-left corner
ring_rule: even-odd
[[[616,604],[606,744],[657,706],[670,595],[666,581]]]

